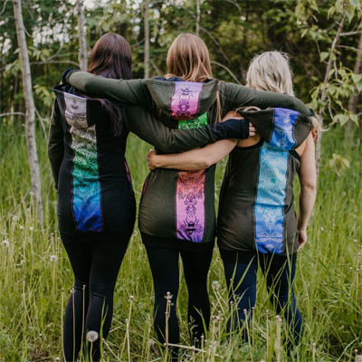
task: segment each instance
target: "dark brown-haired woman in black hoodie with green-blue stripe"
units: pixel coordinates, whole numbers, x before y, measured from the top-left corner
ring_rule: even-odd
[[[103,35],[90,54],[88,71],[130,79],[129,43],[114,33]],[[181,152],[220,138],[242,137],[249,126],[234,120],[231,133],[220,127],[168,129],[145,110],[130,107],[126,113],[117,102],[82,95],[64,79],[54,91],[48,153],[58,189],[59,230],[75,277],[64,318],[64,358],[76,360],[91,331],[91,359],[98,361],[136,214],[124,156],[129,131],[164,152]]]

